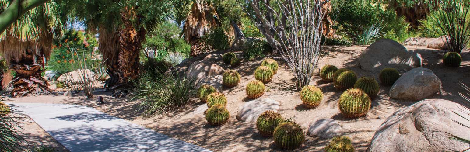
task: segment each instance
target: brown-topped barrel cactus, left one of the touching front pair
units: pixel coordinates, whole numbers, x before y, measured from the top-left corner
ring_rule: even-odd
[[[274,129],[282,122],[284,122],[284,118],[281,114],[268,110],[259,115],[256,120],[256,128],[261,136],[273,137]]]

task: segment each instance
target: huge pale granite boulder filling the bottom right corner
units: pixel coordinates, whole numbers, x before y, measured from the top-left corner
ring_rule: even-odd
[[[449,139],[446,132],[470,139],[470,111],[444,99],[425,99],[397,110],[372,137],[368,152],[462,151],[468,144]],[[455,122],[454,122],[455,121]]]

